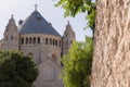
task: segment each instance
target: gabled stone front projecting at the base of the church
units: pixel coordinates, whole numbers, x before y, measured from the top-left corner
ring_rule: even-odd
[[[48,58],[46,63],[38,65],[39,76],[34,83],[35,87],[63,87],[61,79],[62,67]]]

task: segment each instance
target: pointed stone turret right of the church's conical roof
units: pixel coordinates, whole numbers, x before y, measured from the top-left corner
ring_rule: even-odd
[[[64,32],[64,35],[63,35],[63,54],[66,54],[73,44],[73,41],[76,40],[76,36],[75,36],[75,32],[73,30],[72,28],[72,25],[69,24],[69,21],[68,21],[68,24],[66,25],[66,29]]]

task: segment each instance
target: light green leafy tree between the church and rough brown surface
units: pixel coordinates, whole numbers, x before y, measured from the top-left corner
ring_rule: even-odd
[[[92,49],[92,38],[87,38],[86,42],[74,42],[63,57],[65,87],[90,87]]]

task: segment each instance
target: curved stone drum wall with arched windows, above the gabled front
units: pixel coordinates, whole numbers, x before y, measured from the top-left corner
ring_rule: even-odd
[[[36,44],[34,44],[34,37],[36,38]],[[40,44],[38,44],[38,39],[40,38]],[[25,54],[32,54],[32,58],[37,63],[46,62],[47,57],[54,57],[56,63],[61,64],[61,37],[52,36],[52,35],[43,35],[43,34],[23,34],[21,35],[21,39],[24,38],[24,44],[21,42],[21,51]],[[26,38],[28,38],[28,42],[26,44]],[[29,38],[31,38],[31,44],[29,44]],[[48,45],[46,45],[46,38],[48,38]],[[54,39],[57,41],[57,45],[50,44],[50,39]]]

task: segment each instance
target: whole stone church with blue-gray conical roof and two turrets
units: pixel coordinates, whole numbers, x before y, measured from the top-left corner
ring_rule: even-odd
[[[69,22],[62,37],[36,9],[25,21],[21,20],[18,26],[12,15],[0,40],[0,50],[20,50],[34,58],[39,67],[34,87],[63,87],[61,57],[74,40]]]

